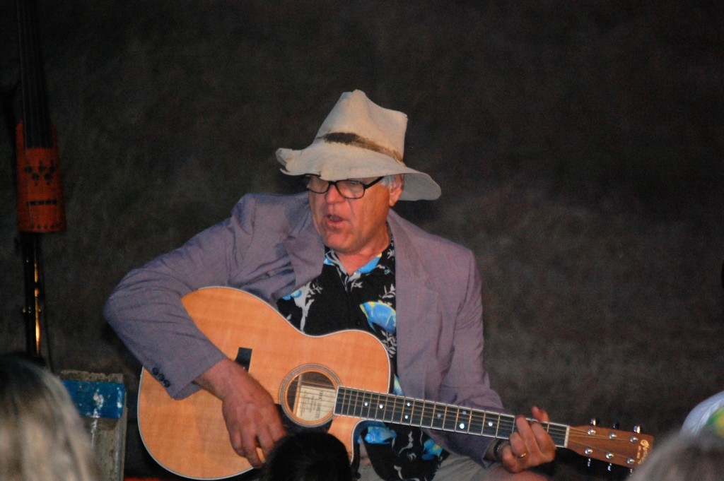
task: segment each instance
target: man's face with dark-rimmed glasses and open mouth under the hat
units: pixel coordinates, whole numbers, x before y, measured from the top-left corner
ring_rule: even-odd
[[[367,184],[374,179],[355,180]],[[314,226],[324,244],[339,255],[377,255],[390,242],[387,213],[402,192],[401,175],[391,186],[374,184],[361,199],[346,199],[334,186],[324,194],[309,192]]]

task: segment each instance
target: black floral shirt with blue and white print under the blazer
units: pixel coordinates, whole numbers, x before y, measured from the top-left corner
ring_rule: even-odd
[[[279,312],[296,328],[311,336],[359,329],[382,341],[397,378],[397,326],[395,315],[395,244],[357,271],[348,274],[334,251],[327,249],[319,277],[282,297]],[[383,480],[432,480],[444,451],[419,427],[370,421],[363,423],[361,440],[375,472]]]

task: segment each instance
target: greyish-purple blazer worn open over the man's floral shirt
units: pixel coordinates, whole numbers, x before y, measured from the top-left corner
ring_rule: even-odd
[[[483,362],[481,280],[470,250],[395,212],[397,371],[405,396],[500,410]],[[308,195],[245,195],[232,216],[131,271],[104,307],[130,351],[182,399],[224,354],[180,303],[205,286],[233,286],[275,305],[321,273],[324,245]],[[450,451],[483,463],[489,438],[432,432]]]

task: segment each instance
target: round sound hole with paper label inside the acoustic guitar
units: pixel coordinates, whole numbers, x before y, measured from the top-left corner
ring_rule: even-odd
[[[285,379],[279,399],[290,420],[317,427],[332,418],[338,385],[324,367],[306,367]]]

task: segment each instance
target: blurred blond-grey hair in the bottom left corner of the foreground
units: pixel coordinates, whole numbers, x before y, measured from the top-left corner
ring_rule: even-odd
[[[0,356],[0,480],[95,481],[90,438],[59,378]]]

